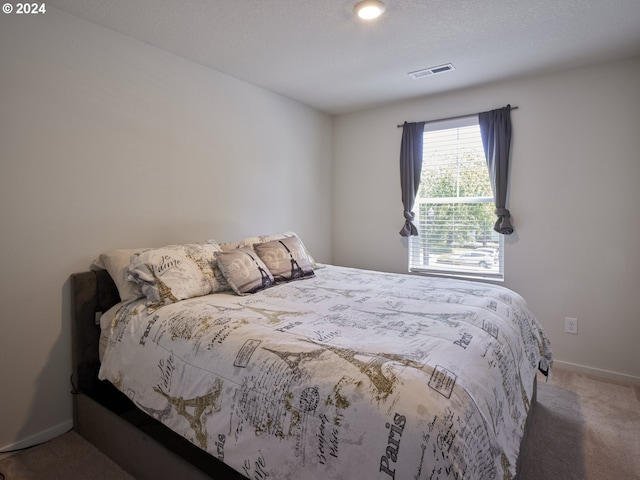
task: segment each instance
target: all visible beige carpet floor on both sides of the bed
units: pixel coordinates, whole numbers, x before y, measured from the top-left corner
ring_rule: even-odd
[[[640,480],[640,386],[554,369],[519,480]],[[3,478],[4,477],[4,478]],[[0,480],[134,480],[75,432],[0,461]]]

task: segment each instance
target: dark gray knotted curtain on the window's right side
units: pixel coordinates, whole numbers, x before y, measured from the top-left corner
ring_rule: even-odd
[[[478,114],[480,135],[489,167],[491,188],[496,200],[498,219],[493,229],[511,235],[511,213],[507,210],[509,181],[509,149],[511,147],[511,105]]]

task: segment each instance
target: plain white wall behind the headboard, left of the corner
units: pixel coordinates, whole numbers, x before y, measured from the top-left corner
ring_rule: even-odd
[[[0,16],[0,450],[71,427],[70,274],[282,230],[330,261],[331,164],[329,116],[49,6]]]

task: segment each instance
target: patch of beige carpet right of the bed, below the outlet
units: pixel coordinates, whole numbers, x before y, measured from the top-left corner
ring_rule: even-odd
[[[555,368],[519,480],[640,480],[640,386]]]

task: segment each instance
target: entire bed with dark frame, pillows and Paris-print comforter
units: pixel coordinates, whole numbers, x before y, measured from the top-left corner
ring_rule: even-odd
[[[137,478],[516,475],[552,362],[518,294],[318,265],[290,232],[174,247],[71,278],[74,422]]]

